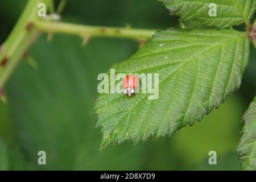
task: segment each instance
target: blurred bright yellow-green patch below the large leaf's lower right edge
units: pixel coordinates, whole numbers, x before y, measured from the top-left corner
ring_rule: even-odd
[[[216,151],[217,166],[221,165],[218,160],[225,155],[236,155],[242,105],[237,96],[230,96],[202,122],[195,123],[192,127],[186,126],[174,134],[172,147],[174,147],[175,154],[183,159],[184,165],[189,167],[188,169],[193,169],[203,160],[209,165],[209,151]]]

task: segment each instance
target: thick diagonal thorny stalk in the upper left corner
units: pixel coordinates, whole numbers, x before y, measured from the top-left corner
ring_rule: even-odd
[[[0,53],[0,88],[5,85],[7,78],[18,65],[19,60],[27,51],[31,43],[38,35],[38,31],[31,28],[29,22],[40,19],[38,16],[38,4],[45,3],[51,8],[52,0],[30,0],[28,1],[18,23],[15,25],[10,36],[2,45]]]

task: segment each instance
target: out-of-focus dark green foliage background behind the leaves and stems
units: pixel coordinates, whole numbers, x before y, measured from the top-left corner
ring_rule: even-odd
[[[56,4],[59,1],[56,1]],[[0,2],[0,44],[9,35],[25,0]],[[255,17],[254,17],[255,18]],[[98,26],[163,29],[178,26],[177,17],[156,0],[69,1],[63,20]],[[200,123],[184,127],[171,138],[110,145],[99,151],[101,134],[91,114],[97,97],[97,75],[128,59],[139,44],[126,39],[93,38],[85,47],[76,36],[42,35],[32,46],[38,69],[22,61],[0,101],[0,170],[240,170],[236,147],[242,115],[256,93],[256,51],[241,89]],[[38,151],[46,151],[39,166]],[[217,152],[217,165],[208,152]]]

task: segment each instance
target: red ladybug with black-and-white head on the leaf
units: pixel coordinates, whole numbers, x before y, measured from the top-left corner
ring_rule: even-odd
[[[123,90],[128,97],[134,96],[139,86],[139,78],[135,75],[126,75],[123,78]]]

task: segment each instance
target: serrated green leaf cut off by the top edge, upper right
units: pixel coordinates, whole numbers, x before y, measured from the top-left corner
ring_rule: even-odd
[[[217,5],[216,16],[209,16],[210,3]],[[206,27],[226,28],[249,20],[256,9],[255,0],[166,0],[170,13],[184,22],[200,22]]]

